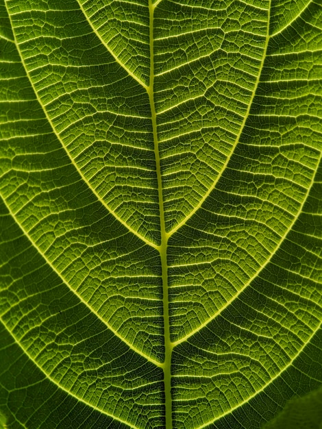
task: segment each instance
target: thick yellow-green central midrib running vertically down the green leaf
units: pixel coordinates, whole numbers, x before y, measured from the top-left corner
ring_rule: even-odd
[[[149,94],[149,102],[151,106],[151,121],[153,128],[153,144],[154,153],[156,156],[156,175],[158,180],[158,200],[160,212],[160,234],[161,243],[158,246],[160,252],[162,266],[162,293],[163,293],[163,318],[164,318],[164,363],[162,365],[164,371],[164,396],[165,396],[165,412],[166,412],[166,429],[172,429],[172,400],[171,400],[171,355],[173,345],[170,341],[170,323],[169,323],[169,298],[168,298],[168,267],[166,260],[166,249],[168,245],[169,235],[166,234],[164,221],[164,205],[162,194],[162,177],[160,152],[158,142],[158,132],[156,123],[156,107],[154,105],[154,51],[153,51],[153,14],[156,5],[153,5],[152,0],[149,0],[149,42],[150,42],[150,78],[147,93]]]

